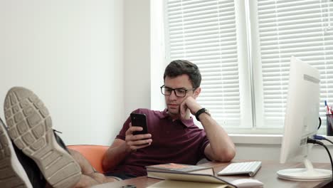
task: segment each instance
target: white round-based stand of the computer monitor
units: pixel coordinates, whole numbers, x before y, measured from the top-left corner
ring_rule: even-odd
[[[319,181],[332,178],[332,171],[327,169],[314,169],[310,160],[305,158],[305,168],[281,169],[277,171],[280,179],[292,181]]]

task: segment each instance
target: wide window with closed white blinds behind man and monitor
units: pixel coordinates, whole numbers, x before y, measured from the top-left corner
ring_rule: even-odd
[[[169,0],[165,11],[166,56],[199,66],[198,101],[221,125],[281,130],[290,56],[321,73],[325,120],[324,100],[333,103],[333,1]]]

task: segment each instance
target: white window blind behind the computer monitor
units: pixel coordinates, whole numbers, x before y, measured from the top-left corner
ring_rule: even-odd
[[[333,2],[258,0],[258,36],[262,80],[262,110],[258,127],[282,127],[287,101],[290,56],[320,72],[320,115],[324,100],[333,103]],[[302,110],[300,110],[302,113]],[[325,121],[323,121],[325,122]]]

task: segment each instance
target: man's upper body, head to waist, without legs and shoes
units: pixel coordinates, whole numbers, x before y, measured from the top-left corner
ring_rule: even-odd
[[[103,168],[110,172],[107,174],[127,179],[147,175],[145,166],[152,164],[196,164],[204,157],[218,162],[231,161],[236,153],[235,145],[223,127],[196,102],[200,83],[201,73],[194,63],[181,60],[169,63],[161,87],[166,109],[134,110],[147,115],[148,134],[133,135],[142,127],[132,126],[127,118],[103,159]],[[191,114],[204,130],[194,125]]]

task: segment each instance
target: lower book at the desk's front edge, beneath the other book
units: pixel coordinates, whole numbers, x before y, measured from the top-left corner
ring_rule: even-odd
[[[189,187],[189,188],[235,188],[236,186],[211,174],[191,174],[186,172],[154,172],[149,171],[148,177],[165,179],[152,184],[149,188]]]

